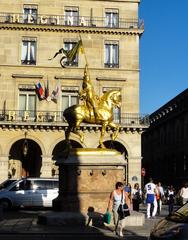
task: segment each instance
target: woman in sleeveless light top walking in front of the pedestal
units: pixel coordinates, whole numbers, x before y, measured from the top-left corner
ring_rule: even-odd
[[[120,237],[123,237],[123,219],[120,218],[118,214],[118,208],[120,205],[124,205],[128,202],[128,195],[124,191],[124,186],[122,182],[117,182],[115,185],[115,190],[111,192],[110,199],[108,202],[107,211],[112,208],[113,219],[115,225],[115,233]]]

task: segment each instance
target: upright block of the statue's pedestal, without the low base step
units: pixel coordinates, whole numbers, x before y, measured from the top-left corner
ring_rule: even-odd
[[[71,149],[68,157],[58,159],[59,196],[53,210],[104,213],[110,192],[125,178],[124,157],[110,149]]]

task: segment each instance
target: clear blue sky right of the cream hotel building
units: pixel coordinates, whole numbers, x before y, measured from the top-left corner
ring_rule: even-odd
[[[150,114],[188,87],[188,0],[141,0],[140,112]]]

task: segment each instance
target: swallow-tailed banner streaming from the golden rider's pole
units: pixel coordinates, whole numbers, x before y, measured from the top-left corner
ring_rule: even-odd
[[[60,59],[60,64],[63,68],[65,68],[65,66],[63,65],[63,60],[67,59],[68,64],[73,63],[76,54],[78,53],[78,51],[83,52],[83,44],[82,44],[82,40],[79,40],[72,49],[70,50],[65,50],[64,48],[59,49],[58,52],[55,53],[55,55],[53,56],[53,58],[50,58],[48,60],[52,60],[54,59],[57,55],[59,54],[63,54],[63,57]]]

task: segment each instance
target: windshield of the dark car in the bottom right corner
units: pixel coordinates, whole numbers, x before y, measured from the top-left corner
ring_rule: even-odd
[[[188,203],[179,208],[172,215],[167,217],[171,221],[175,222],[188,222]]]

